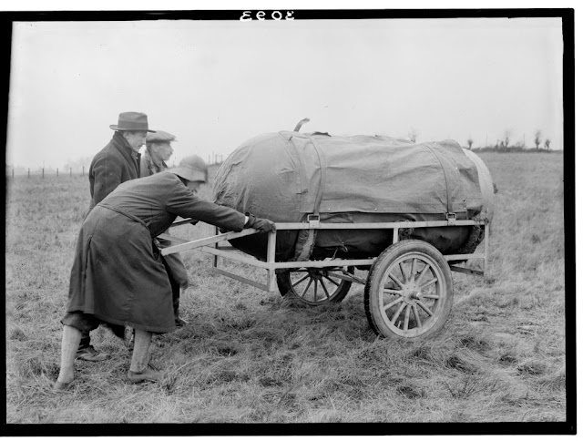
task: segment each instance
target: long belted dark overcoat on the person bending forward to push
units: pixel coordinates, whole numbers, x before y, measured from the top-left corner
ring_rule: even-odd
[[[242,213],[201,200],[170,171],[128,180],[81,226],[66,311],[152,333],[173,331],[169,277],[152,239],[177,216],[230,231],[245,223]]]

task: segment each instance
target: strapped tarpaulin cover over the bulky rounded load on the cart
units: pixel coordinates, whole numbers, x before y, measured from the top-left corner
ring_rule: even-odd
[[[354,217],[445,220],[446,213],[470,219],[484,205],[476,163],[455,141],[415,144],[380,136],[292,131],[251,138],[233,151],[215,178],[214,197],[221,205],[276,222],[299,222],[312,213],[332,222]],[[320,231],[318,238],[326,249],[362,255],[382,251],[389,232],[376,238],[382,243],[373,249],[370,231]],[[297,231],[285,234],[278,232],[278,260],[291,259],[294,253]],[[352,235],[353,251],[363,252],[351,253],[342,234]],[[260,257],[251,244],[257,238],[252,238],[233,244]]]

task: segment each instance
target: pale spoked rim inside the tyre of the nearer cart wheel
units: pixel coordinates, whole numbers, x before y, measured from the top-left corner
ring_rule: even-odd
[[[420,252],[392,262],[383,274],[378,307],[391,332],[415,337],[431,330],[446,308],[447,285],[439,264]]]

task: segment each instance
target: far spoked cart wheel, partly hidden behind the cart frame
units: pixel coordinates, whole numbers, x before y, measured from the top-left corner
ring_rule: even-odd
[[[298,268],[277,275],[281,295],[293,296],[302,303],[318,305],[342,302],[353,282],[347,280],[354,267]]]

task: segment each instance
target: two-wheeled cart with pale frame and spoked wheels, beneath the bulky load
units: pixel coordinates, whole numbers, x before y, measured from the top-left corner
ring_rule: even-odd
[[[192,220],[179,220],[178,226]],[[353,283],[364,285],[364,309],[373,331],[384,337],[398,335],[416,338],[438,332],[452,309],[454,290],[451,272],[485,275],[488,258],[488,220],[428,220],[368,223],[326,223],[319,219],[304,222],[275,224],[277,231],[285,230],[393,230],[393,243],[378,256],[367,259],[325,258],[303,262],[276,262],[277,232],[270,232],[264,261],[245,254],[231,246],[230,241],[258,233],[254,229],[227,232],[195,241],[185,241],[169,234],[164,239],[172,246],[161,251],[168,255],[179,251],[198,249],[214,255],[212,272],[248,283],[267,292],[279,288],[281,295],[297,297],[311,305],[341,302]],[[444,255],[426,241],[399,239],[402,229],[439,228],[450,226],[477,226],[484,230],[484,251],[472,254]],[[220,259],[242,262],[263,268],[267,272],[264,283],[220,268]],[[459,266],[469,260],[482,260],[482,270]],[[363,279],[354,269],[368,270]]]

